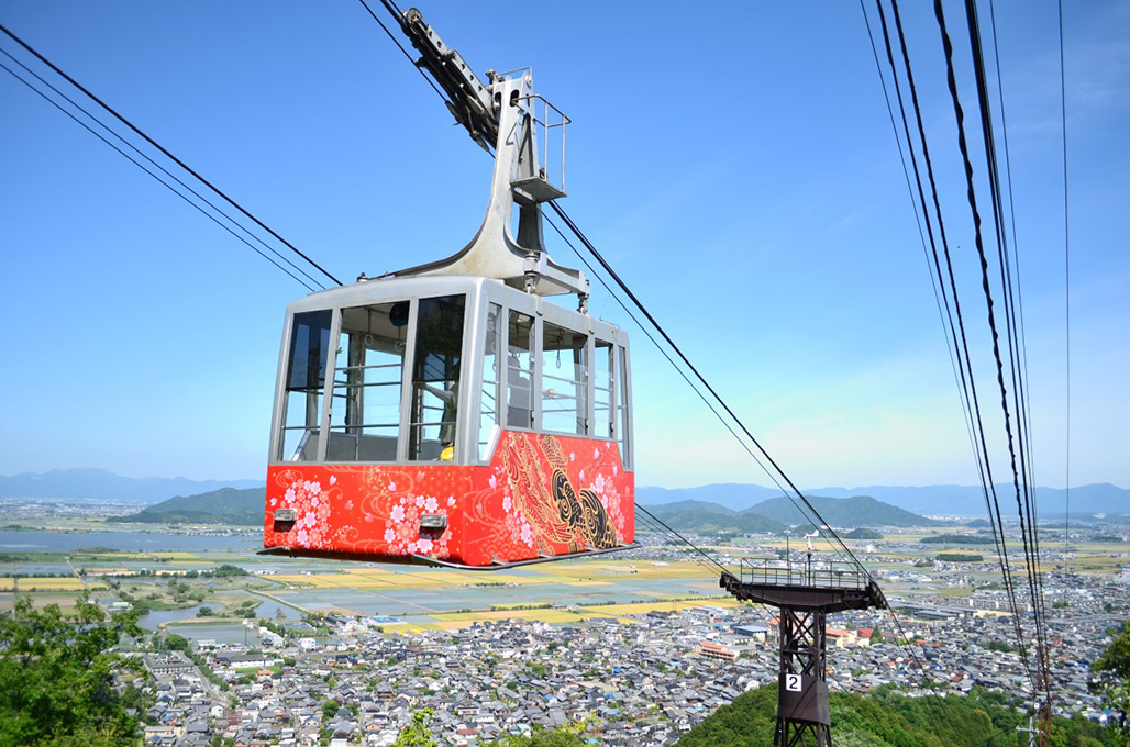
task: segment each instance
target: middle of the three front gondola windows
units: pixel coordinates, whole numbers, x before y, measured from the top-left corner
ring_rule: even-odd
[[[408,302],[341,310],[328,461],[397,459]]]

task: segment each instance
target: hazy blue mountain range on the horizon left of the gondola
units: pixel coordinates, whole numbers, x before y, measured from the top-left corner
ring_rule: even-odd
[[[220,488],[262,487],[262,480],[190,480],[184,477],[122,477],[104,469],[54,469],[33,475],[0,476],[0,498],[95,498],[157,503],[177,495]]]

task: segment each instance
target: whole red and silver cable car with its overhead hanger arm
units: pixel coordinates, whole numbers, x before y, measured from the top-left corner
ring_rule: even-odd
[[[529,70],[484,85],[418,11],[401,26],[495,150],[489,207],[453,257],[287,309],[264,551],[489,568],[633,546],[628,339],[542,244],[564,192],[538,133],[568,120]],[[563,294],[577,311],[546,298]]]

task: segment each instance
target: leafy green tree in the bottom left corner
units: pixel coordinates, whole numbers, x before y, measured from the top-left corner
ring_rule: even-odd
[[[29,598],[0,619],[0,746],[121,745],[138,738],[130,701],[114,688],[131,667],[112,649],[138,636],[133,610],[108,619],[84,594],[75,611],[41,610]]]

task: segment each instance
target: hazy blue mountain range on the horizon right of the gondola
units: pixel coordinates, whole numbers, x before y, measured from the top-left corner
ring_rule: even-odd
[[[1015,509],[1016,492],[1011,485],[996,486],[1001,507],[1007,504]],[[766,498],[780,498],[777,488],[760,485],[702,485],[689,488],[661,488],[641,486],[636,488],[636,501],[651,506],[683,501],[704,501],[727,509],[741,511]],[[930,515],[981,515],[985,512],[985,500],[981,487],[963,485],[929,485],[924,487],[869,486],[857,488],[824,487],[805,490],[805,496],[849,498],[868,496],[883,503]],[[1063,515],[1067,490],[1061,488],[1036,488],[1036,505],[1041,518]],[[1118,513],[1130,511],[1130,490],[1110,484],[1083,485],[1070,490],[1070,507],[1079,513]],[[790,504],[791,505],[791,504]],[[823,514],[823,511],[820,512]],[[828,519],[832,521],[832,519]]]

